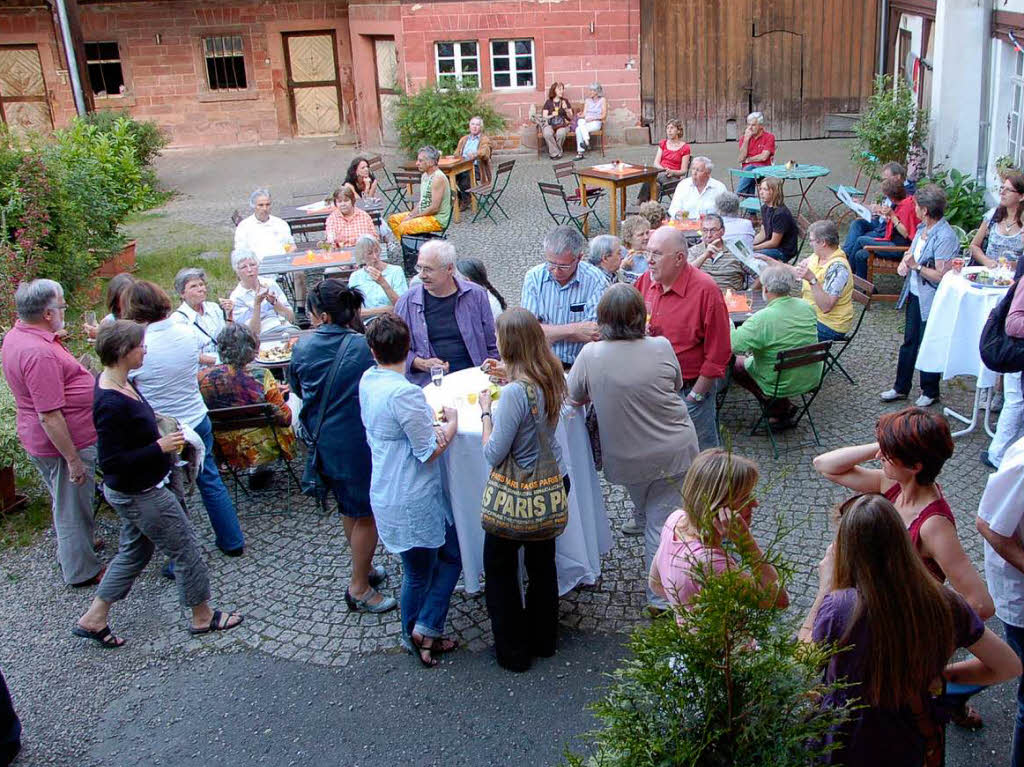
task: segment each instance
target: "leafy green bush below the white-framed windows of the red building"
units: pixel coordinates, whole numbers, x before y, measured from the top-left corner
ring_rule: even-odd
[[[401,93],[395,121],[401,147],[415,155],[421,146],[430,144],[442,155],[451,155],[466,134],[473,115],[483,119],[484,132],[505,129],[505,118],[480,96],[478,90],[443,89],[435,85],[416,93]]]

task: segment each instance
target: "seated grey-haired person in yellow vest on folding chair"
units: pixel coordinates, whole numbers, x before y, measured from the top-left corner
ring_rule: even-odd
[[[839,247],[839,227],[815,221],[807,233],[814,253],[792,267],[803,281],[803,298],[818,315],[818,340],[838,341],[853,327],[853,271]]]

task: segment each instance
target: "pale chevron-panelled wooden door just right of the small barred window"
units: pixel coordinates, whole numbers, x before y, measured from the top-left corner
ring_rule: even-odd
[[[300,136],[337,135],[343,130],[336,49],[330,30],[285,34],[292,123]]]

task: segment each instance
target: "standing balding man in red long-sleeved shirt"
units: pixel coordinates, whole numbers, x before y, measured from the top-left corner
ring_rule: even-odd
[[[697,443],[702,451],[717,448],[715,393],[732,355],[725,298],[714,280],[689,265],[686,239],[678,229],[655,229],[647,254],[650,268],[636,285],[647,306],[647,332],[672,342]]]

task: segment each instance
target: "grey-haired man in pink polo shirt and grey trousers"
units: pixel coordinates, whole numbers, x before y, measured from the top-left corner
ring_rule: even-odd
[[[65,583],[91,586],[103,574],[92,537],[96,381],[60,344],[68,303],[59,283],[22,283],[14,307],[17,322],[4,336],[0,353],[17,406],[17,435],[53,501]]]

